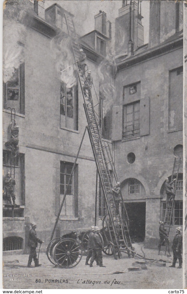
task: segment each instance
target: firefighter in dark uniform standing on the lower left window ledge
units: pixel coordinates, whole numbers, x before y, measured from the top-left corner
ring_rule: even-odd
[[[13,178],[11,178],[10,174],[8,173],[6,177],[4,178],[4,185],[3,185],[3,190],[4,190],[4,196],[8,200],[9,204],[15,205],[15,199],[16,196],[14,194],[14,186],[16,185],[16,182]],[[11,201],[12,198],[12,201]]]

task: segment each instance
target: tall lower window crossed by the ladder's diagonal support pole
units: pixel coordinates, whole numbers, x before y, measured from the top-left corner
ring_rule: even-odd
[[[67,189],[66,198],[62,207],[62,215],[77,216],[77,199],[78,199],[78,166],[76,165],[73,175],[70,179],[73,163],[60,162],[60,195],[61,201]],[[68,186],[68,181],[69,186]]]

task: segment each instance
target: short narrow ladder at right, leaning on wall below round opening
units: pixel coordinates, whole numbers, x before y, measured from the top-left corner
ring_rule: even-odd
[[[173,191],[174,194],[176,193],[176,188],[177,188],[178,171],[179,171],[180,163],[181,163],[181,157],[179,157],[179,156],[175,157],[174,158],[174,163],[173,163],[172,176],[171,176],[171,182],[174,179],[176,179],[175,186],[174,186],[174,191]],[[173,212],[174,201],[175,201],[175,197],[173,197],[172,201],[168,201],[168,203],[166,205],[166,213],[165,213],[165,217],[164,217],[164,223],[166,225],[169,225],[169,227],[168,227],[168,236],[169,236],[170,227],[171,227],[171,220],[172,220],[172,212]],[[167,250],[167,245],[168,244],[166,244],[165,253],[166,253],[166,250]]]

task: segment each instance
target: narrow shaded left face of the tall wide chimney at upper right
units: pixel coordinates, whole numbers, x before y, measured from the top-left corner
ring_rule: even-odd
[[[167,3],[168,4],[168,3]],[[150,1],[149,47],[160,43],[160,1]]]

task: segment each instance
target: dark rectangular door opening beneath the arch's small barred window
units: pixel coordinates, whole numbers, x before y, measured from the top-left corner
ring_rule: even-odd
[[[132,242],[143,242],[145,238],[145,207],[145,202],[125,203]]]

